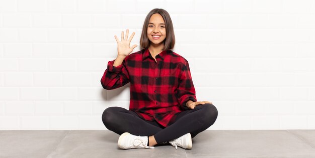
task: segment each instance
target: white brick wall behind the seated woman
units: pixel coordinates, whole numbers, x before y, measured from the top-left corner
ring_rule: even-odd
[[[197,99],[219,111],[209,129],[315,129],[311,0],[0,0],[0,129],[106,129],[103,111],[130,97],[100,83],[114,35],[139,46],[153,8],[171,15]]]

